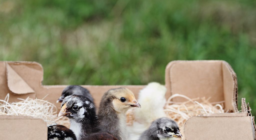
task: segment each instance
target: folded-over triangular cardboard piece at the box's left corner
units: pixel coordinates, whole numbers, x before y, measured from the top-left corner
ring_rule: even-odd
[[[14,69],[6,64],[7,84],[10,91],[14,94],[35,93],[35,91],[20,77]]]

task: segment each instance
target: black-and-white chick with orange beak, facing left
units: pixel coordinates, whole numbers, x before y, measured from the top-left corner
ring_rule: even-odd
[[[70,119],[70,129],[76,135],[77,140],[100,131],[94,104],[84,96],[65,97],[58,116],[67,116]]]

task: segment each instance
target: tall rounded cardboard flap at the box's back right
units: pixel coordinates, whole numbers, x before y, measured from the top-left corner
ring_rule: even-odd
[[[231,66],[221,60],[172,61],[166,66],[166,97],[182,94],[225,101],[227,111],[237,112],[237,78]],[[183,98],[173,101],[182,102]]]

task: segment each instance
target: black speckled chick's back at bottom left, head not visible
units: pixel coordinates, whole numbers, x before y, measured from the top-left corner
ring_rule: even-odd
[[[72,130],[63,125],[48,126],[48,140],[77,140]]]

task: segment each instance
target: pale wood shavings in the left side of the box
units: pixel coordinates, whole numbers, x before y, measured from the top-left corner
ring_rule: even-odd
[[[29,97],[17,99],[20,101],[9,103],[9,94],[7,94],[4,100],[0,100],[0,115],[32,116],[44,120],[47,125],[61,124],[69,128],[68,118],[58,118],[57,107],[54,104],[43,99],[32,99]]]

